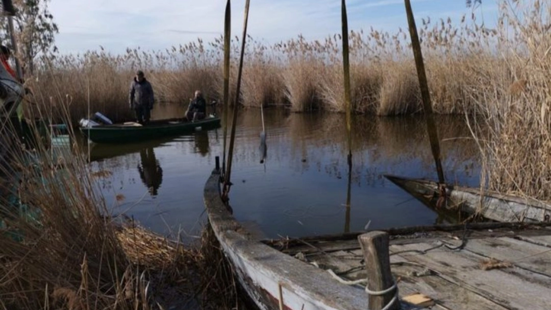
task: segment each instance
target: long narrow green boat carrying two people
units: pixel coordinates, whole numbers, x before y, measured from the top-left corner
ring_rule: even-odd
[[[220,117],[209,115],[203,120],[193,122],[185,118],[153,120],[144,126],[136,122],[125,122],[114,125],[81,126],[80,131],[88,140],[95,143],[126,143],[219,127]]]

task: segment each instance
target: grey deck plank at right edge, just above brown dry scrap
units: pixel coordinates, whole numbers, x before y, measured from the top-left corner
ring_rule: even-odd
[[[541,245],[514,238],[487,238],[470,239],[464,249],[551,276],[551,249]]]

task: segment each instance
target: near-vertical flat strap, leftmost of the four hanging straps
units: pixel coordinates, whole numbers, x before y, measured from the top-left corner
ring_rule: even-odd
[[[230,89],[230,37],[231,37],[231,3],[226,2],[224,19],[224,153],[222,155],[222,171],[226,169],[226,137],[228,136],[228,105]]]

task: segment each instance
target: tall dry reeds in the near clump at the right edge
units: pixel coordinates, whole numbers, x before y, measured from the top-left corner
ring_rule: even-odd
[[[483,120],[472,124],[489,188],[551,199],[551,4],[503,2],[497,29],[499,62],[475,85]],[[488,36],[480,38],[489,40]],[[479,135],[480,127],[489,129]]]

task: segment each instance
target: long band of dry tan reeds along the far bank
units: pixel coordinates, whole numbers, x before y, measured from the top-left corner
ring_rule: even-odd
[[[506,10],[501,9],[502,18],[505,14]],[[526,28],[531,21],[520,18],[518,23],[518,27]],[[503,79],[508,73],[500,70],[503,67],[500,64],[516,61],[509,52],[503,57],[500,46],[514,45],[517,38],[499,31],[485,27],[475,13],[460,20],[423,19],[419,36],[436,113],[480,113],[478,102],[491,91],[480,85]],[[315,109],[344,112],[341,40],[339,34],[323,40],[307,40],[298,35],[268,44],[249,36],[239,104],[284,105],[296,112]],[[239,38],[231,40],[233,92],[239,46]],[[396,33],[373,28],[365,32],[351,30],[349,46],[355,113],[401,115],[422,111],[407,30],[399,29]],[[522,61],[528,60],[526,55],[519,56]],[[137,69],[145,71],[159,103],[187,105],[196,89],[203,90],[209,100],[222,101],[222,65],[220,36],[212,42],[197,39],[166,50],[128,49],[123,55],[100,50],[43,58],[36,76],[30,77],[28,83],[32,88],[42,89],[39,97],[45,100],[55,97],[63,86],[63,95],[72,99],[72,119],[84,117],[90,109],[119,121],[133,117],[128,109],[127,92]],[[235,94],[230,94],[230,98],[233,100]]]

